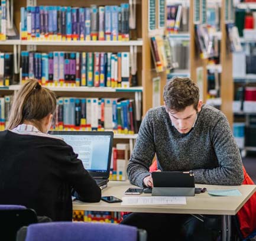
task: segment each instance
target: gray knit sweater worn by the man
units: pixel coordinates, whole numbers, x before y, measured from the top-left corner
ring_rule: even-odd
[[[127,167],[132,184],[142,187],[155,154],[162,171],[193,170],[196,183],[241,185],[244,179],[228,120],[211,106],[203,105],[187,134],[171,125],[164,106],[148,110]]]

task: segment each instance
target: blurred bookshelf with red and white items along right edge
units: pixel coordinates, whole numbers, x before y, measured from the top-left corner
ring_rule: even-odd
[[[255,142],[255,2],[235,5],[235,23],[239,30],[242,51],[234,53],[234,136],[242,155],[256,151]],[[251,22],[250,22],[251,21]],[[254,153],[255,155],[255,153]]]

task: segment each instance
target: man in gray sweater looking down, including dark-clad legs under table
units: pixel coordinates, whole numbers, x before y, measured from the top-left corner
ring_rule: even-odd
[[[196,183],[241,185],[244,179],[239,149],[225,115],[202,105],[199,89],[189,78],[174,77],[168,82],[164,106],[148,110],[143,119],[127,168],[132,184],[153,187],[149,167],[155,154],[159,170],[192,170]],[[190,215],[132,213],[123,223],[146,229],[150,240],[164,232],[177,240],[216,238]]]

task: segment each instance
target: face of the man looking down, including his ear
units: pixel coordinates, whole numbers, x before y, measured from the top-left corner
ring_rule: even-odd
[[[177,112],[176,110],[167,111],[170,116],[171,123],[173,123],[174,127],[182,134],[188,133],[195,121],[196,115],[200,112],[202,108],[202,101],[199,101],[197,106],[197,111],[195,110],[193,105],[187,106],[184,110]]]

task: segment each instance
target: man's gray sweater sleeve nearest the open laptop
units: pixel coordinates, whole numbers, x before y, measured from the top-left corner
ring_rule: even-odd
[[[150,111],[143,119],[131,159],[127,167],[128,178],[132,184],[143,186],[143,179],[150,175],[149,167],[155,155],[154,128]]]

